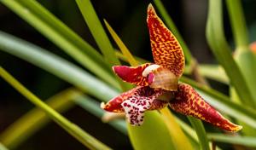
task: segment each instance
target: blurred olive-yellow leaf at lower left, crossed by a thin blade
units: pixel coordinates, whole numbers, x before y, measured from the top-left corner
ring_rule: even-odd
[[[45,101],[45,103],[56,111],[63,113],[74,106],[71,100],[78,98],[80,95],[82,95],[82,93],[79,92],[79,90],[67,89],[52,96],[49,100]],[[35,107],[15,120],[15,123],[9,125],[9,127],[1,133],[0,141],[2,141],[6,147],[15,149],[38,130],[41,130],[49,121],[50,119],[46,113],[40,108]]]

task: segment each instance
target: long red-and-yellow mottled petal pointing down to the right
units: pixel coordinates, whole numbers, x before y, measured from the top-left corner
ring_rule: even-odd
[[[238,131],[240,125],[231,123],[218,111],[211,107],[189,84],[179,84],[175,100],[170,101],[170,107],[178,113],[200,118],[223,130]]]

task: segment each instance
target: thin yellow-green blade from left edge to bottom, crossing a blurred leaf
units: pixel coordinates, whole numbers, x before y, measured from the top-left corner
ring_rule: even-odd
[[[67,118],[61,116],[60,113],[57,113],[53,108],[49,107],[44,101],[41,101],[36,95],[33,95],[28,89],[26,89],[22,84],[20,84],[14,77],[12,77],[9,72],[6,72],[3,67],[0,67],[0,76],[12,85],[17,91],[20,92],[21,95],[24,95],[29,101],[31,101],[34,105],[41,108],[44,113],[49,115],[56,124],[59,124],[64,130],[66,130],[71,136],[76,138],[85,147],[89,147],[90,149],[110,149],[108,146],[104,145],[101,141],[98,141],[93,136],[90,136],[84,130],[82,130],[76,124],[73,124]]]

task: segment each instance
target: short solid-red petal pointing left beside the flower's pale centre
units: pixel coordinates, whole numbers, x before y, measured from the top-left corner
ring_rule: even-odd
[[[113,66],[113,72],[115,72],[119,78],[122,78],[125,82],[139,86],[148,86],[151,83],[148,81],[147,77],[143,77],[143,71],[150,65],[150,63],[146,63],[141,66]]]

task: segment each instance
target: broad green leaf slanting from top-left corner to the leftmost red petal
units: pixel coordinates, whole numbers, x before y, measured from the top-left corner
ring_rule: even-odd
[[[58,20],[35,0],[1,0],[5,6],[26,20],[51,42],[71,55],[81,65],[94,72],[108,84],[119,87],[110,66],[103,61],[96,49],[84,42],[75,32]]]

